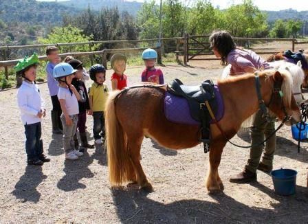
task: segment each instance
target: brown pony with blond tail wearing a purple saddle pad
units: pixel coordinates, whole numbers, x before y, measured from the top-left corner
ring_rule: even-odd
[[[255,77],[255,74],[245,74],[218,82],[225,113],[217,124],[210,124],[210,163],[206,177],[206,188],[210,193],[220,192],[224,188],[218,167],[225,144],[236,134],[241,123],[259,109]],[[292,93],[294,82],[289,71],[260,71],[259,82],[267,108],[285,124],[296,124],[300,120],[300,110]],[[276,91],[277,85],[281,89],[279,93]],[[109,181],[112,187],[135,183],[143,190],[153,191],[140,164],[140,148],[144,136],[175,150],[192,148],[200,143],[198,125],[166,120],[166,91],[166,86],[144,85],[113,91],[109,95],[105,109],[105,128]]]

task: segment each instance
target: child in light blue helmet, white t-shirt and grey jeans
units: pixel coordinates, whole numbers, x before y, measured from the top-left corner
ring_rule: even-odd
[[[58,99],[63,111],[61,121],[63,125],[63,147],[65,159],[78,159],[83,153],[75,149],[74,135],[78,122],[78,100],[80,94],[77,92],[72,80],[77,70],[67,63],[59,63],[54,67],[52,76],[59,82]]]

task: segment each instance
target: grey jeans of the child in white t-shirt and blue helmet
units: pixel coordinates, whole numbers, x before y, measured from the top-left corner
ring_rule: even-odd
[[[69,153],[70,151],[75,149],[74,135],[77,129],[78,114],[69,115],[69,117],[71,117],[73,122],[73,124],[70,126],[66,124],[65,115],[61,115],[61,121],[63,126],[63,148],[65,153]]]

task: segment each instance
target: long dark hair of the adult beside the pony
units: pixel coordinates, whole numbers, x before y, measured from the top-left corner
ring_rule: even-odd
[[[225,30],[214,31],[210,35],[209,41],[210,47],[214,47],[221,55],[221,65],[227,65],[228,54],[236,48],[236,43],[234,43],[231,34]]]

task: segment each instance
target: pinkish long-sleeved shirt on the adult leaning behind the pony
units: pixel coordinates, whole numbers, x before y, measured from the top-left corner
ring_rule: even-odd
[[[272,68],[267,61],[249,49],[233,49],[228,54],[227,61],[231,65],[230,74],[243,74],[244,69],[250,67],[257,70]]]

